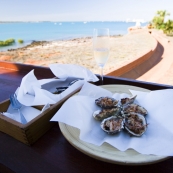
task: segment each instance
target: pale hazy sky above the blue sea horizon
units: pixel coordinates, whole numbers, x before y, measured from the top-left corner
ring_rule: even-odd
[[[0,21],[151,21],[158,10],[173,20],[173,0],[0,0]]]

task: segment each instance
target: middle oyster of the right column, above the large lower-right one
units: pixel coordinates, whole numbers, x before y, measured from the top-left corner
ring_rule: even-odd
[[[137,104],[128,104],[126,105],[124,108],[124,113],[130,113],[130,112],[135,112],[135,113],[139,113],[139,114],[142,114],[142,115],[147,115],[148,112],[147,110],[140,106],[140,105],[137,105]]]

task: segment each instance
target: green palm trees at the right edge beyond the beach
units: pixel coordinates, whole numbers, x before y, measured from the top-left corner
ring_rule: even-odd
[[[173,34],[173,20],[168,20],[165,22],[165,17],[169,16],[170,13],[164,11],[157,11],[157,15],[152,19],[152,26],[155,29],[163,30],[163,32],[167,35]]]

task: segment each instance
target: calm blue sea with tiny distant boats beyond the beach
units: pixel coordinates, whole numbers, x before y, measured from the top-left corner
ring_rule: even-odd
[[[135,22],[9,22],[0,23],[0,41],[10,38],[16,43],[0,47],[0,51],[15,49],[30,44],[32,41],[68,40],[81,37],[92,37],[94,28],[109,28],[110,35],[125,35],[128,27]],[[147,23],[142,23],[146,26]],[[18,39],[24,41],[17,43]]]

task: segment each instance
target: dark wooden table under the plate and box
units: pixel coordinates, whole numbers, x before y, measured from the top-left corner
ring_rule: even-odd
[[[49,68],[0,62],[0,101],[8,99],[21,79],[35,69],[38,79],[54,77]],[[173,86],[140,82],[116,77],[104,77],[105,84],[125,84],[150,90]],[[156,144],[157,145],[157,144]],[[93,159],[69,144],[58,123],[31,147],[0,132],[0,172],[17,173],[171,173],[173,158],[146,166],[122,166]]]

